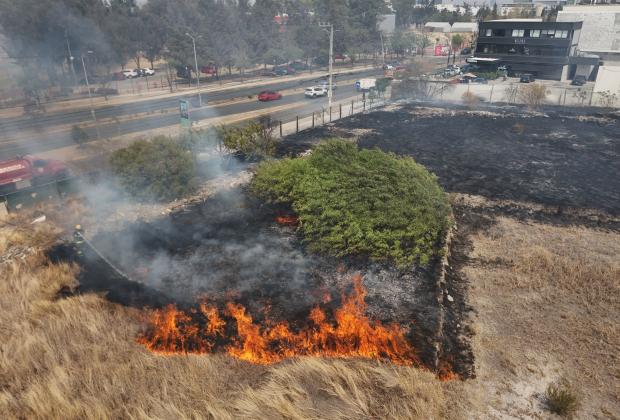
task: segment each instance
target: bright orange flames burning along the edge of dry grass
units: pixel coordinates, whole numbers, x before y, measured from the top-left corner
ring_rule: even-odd
[[[170,305],[153,311],[146,332],[138,342],[163,354],[225,351],[241,360],[270,364],[295,356],[361,357],[420,365],[415,349],[397,324],[381,325],[366,315],[366,289],[362,277],[352,279],[352,292],[342,294],[333,311],[314,307],[301,328],[268,317],[257,323],[246,308],[227,303],[220,311],[202,303],[190,311]]]

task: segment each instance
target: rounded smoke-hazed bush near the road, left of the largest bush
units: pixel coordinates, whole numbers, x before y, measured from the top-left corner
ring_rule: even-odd
[[[110,166],[121,186],[140,199],[171,200],[196,188],[192,153],[168,137],[136,141],[117,150]]]

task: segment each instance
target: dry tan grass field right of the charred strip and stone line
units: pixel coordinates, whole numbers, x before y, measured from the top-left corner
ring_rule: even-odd
[[[454,418],[547,418],[567,378],[576,418],[620,418],[620,234],[498,217],[464,272],[476,308],[478,377],[454,388]]]

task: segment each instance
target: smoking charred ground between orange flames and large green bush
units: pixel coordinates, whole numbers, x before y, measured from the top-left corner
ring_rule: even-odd
[[[53,257],[82,266],[78,293],[105,293],[113,302],[137,308],[172,303],[191,311],[203,298],[220,308],[235,302],[258,322],[286,320],[293,328],[302,326],[315,306],[328,314],[339,307],[360,273],[367,315],[405,327],[420,360],[436,369],[442,357],[441,259],[399,270],[311,254],[293,226],[276,221],[289,214],[237,188],[159,220],[92,238],[89,242],[121,273],[88,244],[79,247],[80,254],[71,244],[57,247]]]

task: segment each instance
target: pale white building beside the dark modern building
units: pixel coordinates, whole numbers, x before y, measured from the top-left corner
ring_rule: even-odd
[[[620,5],[564,6],[557,21],[583,21],[580,51],[620,52]]]

